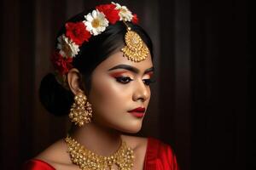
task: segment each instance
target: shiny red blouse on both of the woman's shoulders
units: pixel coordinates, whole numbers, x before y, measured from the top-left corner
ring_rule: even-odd
[[[55,170],[45,161],[32,159],[26,161],[24,170]],[[144,161],[144,170],[178,170],[177,161],[169,145],[158,139],[148,138],[148,146]]]

